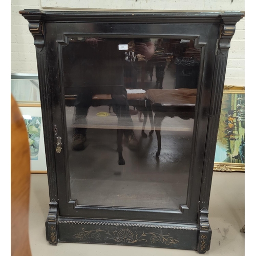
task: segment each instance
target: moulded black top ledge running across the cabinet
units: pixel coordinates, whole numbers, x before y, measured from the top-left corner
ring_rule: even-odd
[[[243,11],[19,11],[28,20],[45,22],[236,23]]]

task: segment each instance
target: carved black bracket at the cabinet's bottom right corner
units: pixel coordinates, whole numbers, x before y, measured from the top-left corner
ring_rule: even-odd
[[[208,210],[203,207],[199,212],[199,238],[197,251],[205,253],[210,248],[211,229],[208,220]]]

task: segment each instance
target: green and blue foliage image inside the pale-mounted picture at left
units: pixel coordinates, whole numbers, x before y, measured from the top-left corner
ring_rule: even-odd
[[[24,119],[29,137],[30,159],[38,160],[42,118],[37,116],[31,118]]]

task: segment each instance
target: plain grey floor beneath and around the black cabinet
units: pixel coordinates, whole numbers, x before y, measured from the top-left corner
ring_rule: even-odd
[[[244,173],[214,172],[209,207],[212,238],[206,255],[245,255],[245,234],[240,232],[245,223],[244,178]],[[33,256],[198,255],[196,251],[120,245],[58,243],[52,246],[46,241],[45,235],[49,209],[46,174],[31,175],[30,195],[29,235]]]

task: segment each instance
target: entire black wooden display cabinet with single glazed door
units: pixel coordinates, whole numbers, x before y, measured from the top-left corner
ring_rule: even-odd
[[[209,250],[225,69],[244,14],[20,14],[36,47],[50,244]]]

